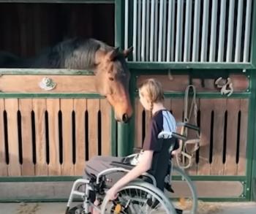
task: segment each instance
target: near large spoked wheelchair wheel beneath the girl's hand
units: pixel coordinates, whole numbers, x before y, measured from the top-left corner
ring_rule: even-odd
[[[133,213],[161,213],[176,214],[176,210],[169,199],[157,187],[145,182],[132,182],[118,192],[118,198],[110,201],[105,196],[102,214],[133,214]]]

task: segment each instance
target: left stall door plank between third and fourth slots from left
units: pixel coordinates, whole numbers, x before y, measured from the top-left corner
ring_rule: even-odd
[[[46,99],[33,99],[35,136],[36,136],[36,175],[48,175],[46,160],[45,112]]]

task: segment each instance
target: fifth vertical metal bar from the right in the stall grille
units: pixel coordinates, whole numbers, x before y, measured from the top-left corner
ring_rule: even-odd
[[[218,8],[218,1],[212,1],[212,9],[211,9],[211,39],[210,39],[210,56],[209,56],[209,61],[210,62],[215,61],[217,8]]]

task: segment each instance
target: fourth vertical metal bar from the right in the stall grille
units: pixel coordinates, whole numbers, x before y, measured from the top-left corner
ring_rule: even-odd
[[[220,4],[220,23],[219,23],[219,46],[218,61],[223,61],[224,40],[225,40],[225,18],[226,18],[226,0],[222,0]]]

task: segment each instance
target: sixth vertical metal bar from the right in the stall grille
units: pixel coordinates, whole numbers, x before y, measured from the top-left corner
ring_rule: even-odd
[[[208,12],[209,12],[209,1],[203,1],[203,31],[201,40],[201,58],[200,61],[206,61],[207,54],[207,42],[208,42]]]

